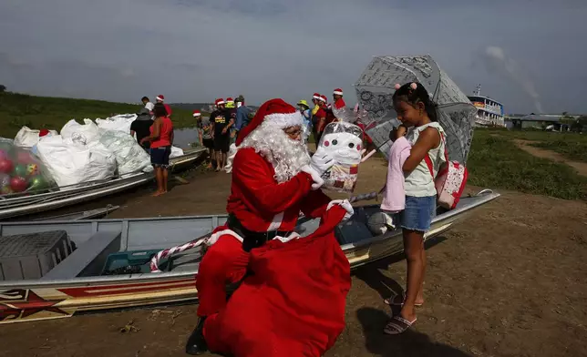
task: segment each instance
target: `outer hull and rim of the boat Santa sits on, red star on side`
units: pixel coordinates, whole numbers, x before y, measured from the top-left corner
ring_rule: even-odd
[[[438,237],[452,228],[459,220],[466,219],[473,209],[477,209],[498,197],[499,194],[488,191],[457,209],[439,215],[433,220],[431,230],[427,232],[425,239],[430,240]],[[358,213],[361,209],[358,208]],[[367,206],[364,209],[376,209],[376,207]],[[51,224],[65,230],[67,230],[67,225],[70,225],[74,235],[78,228],[84,227],[84,230],[86,229],[86,226],[82,226],[84,224],[88,224],[88,227],[91,226],[92,230],[100,230],[99,227],[102,225],[103,230],[120,229],[123,236],[129,237],[129,230],[133,224],[147,225],[145,230],[155,231],[154,225],[157,220],[160,220],[161,225],[169,227],[172,224],[179,227],[182,224],[189,224],[186,219],[190,218],[134,219],[134,221],[105,219],[84,223],[52,222]],[[223,216],[207,216],[203,219],[208,219],[206,224],[210,226],[207,229],[210,231],[225,221]],[[21,224],[24,225],[24,223]],[[74,226],[77,228],[74,229]],[[44,226],[30,227],[29,225],[26,229],[29,232],[42,231],[42,227]],[[52,229],[52,227],[48,228]],[[20,229],[18,223],[0,224],[0,233],[2,234],[14,234],[17,229]],[[129,248],[128,241],[126,247]],[[351,269],[355,269],[402,252],[401,230],[394,230],[379,237],[341,244],[341,249],[345,251]],[[5,281],[0,283],[0,323],[66,318],[84,311],[105,311],[197,301],[198,291],[195,287],[197,274],[196,268],[184,271],[98,276],[71,280]]]

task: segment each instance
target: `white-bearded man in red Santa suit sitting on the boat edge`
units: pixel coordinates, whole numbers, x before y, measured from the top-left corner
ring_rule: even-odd
[[[336,203],[353,214],[348,201],[333,201],[320,189],[324,183],[320,177],[334,161],[324,154],[310,158],[302,139],[304,128],[304,117],[295,107],[271,99],[232,146],[227,165],[232,171],[229,218],[214,230],[201,260],[196,280],[200,321],[188,340],[187,353],[207,351],[204,322],[226,306],[226,286],[242,280],[252,249],[275,237],[290,236],[300,212],[321,218]]]

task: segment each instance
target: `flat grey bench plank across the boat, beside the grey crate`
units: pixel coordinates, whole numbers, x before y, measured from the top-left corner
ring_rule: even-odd
[[[62,280],[100,275],[108,255],[120,250],[121,233],[99,231],[81,244],[65,260],[49,270],[41,280]]]

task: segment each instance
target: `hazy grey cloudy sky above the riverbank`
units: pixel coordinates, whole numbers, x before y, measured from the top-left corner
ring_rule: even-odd
[[[433,56],[507,112],[587,112],[585,0],[3,0],[0,84],[250,104],[330,97],[375,55]]]

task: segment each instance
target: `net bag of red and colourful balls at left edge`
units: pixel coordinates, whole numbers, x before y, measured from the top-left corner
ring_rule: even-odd
[[[57,187],[45,165],[26,148],[0,139],[0,195],[40,193]]]

